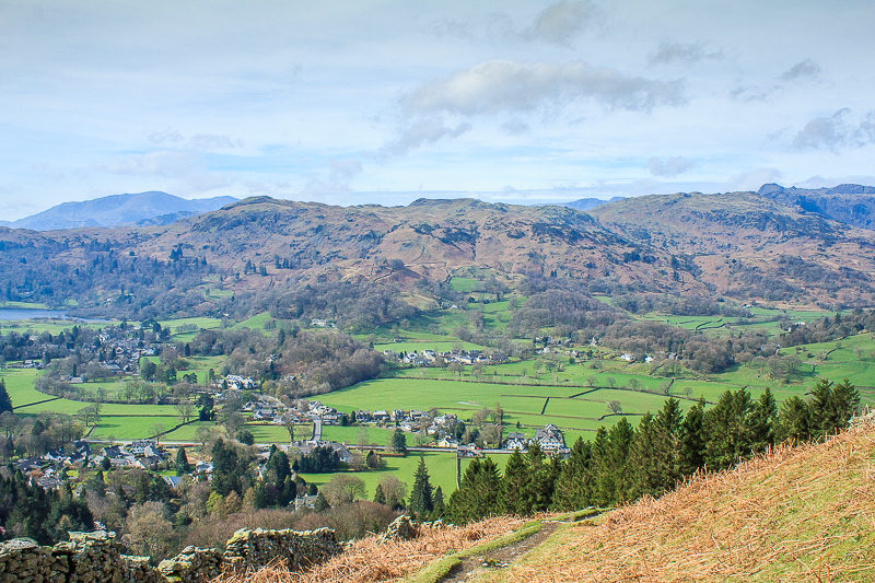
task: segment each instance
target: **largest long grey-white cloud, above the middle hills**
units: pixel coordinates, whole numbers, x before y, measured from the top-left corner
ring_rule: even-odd
[[[685,102],[680,81],[629,75],[583,61],[492,60],[420,86],[405,97],[404,105],[412,113],[489,115],[530,112],[578,100],[640,112]]]

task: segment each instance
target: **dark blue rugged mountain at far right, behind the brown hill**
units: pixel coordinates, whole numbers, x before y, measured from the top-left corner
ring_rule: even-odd
[[[802,212],[875,230],[875,186],[841,184],[832,188],[785,188],[765,184],[758,194]]]

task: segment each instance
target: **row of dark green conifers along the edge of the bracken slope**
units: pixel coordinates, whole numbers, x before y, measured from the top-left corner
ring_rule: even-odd
[[[669,398],[638,428],[623,418],[600,428],[592,442],[578,439],[564,460],[545,455],[537,444],[525,454],[514,452],[503,474],[490,458],[472,459],[450,497],[446,516],[467,523],[657,497],[700,469],[723,470],[778,443],[840,431],[859,405],[848,380],[821,380],[809,399],[792,397],[780,408],[769,389],[758,399],[746,388],[727,390],[713,407],[705,409],[700,400],[686,413]]]

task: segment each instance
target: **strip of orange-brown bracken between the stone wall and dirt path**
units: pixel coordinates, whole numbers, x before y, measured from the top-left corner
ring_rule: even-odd
[[[397,581],[451,551],[466,549],[522,526],[521,518],[490,518],[468,526],[425,528],[413,540],[378,543],[376,536],[358,540],[342,555],[304,573],[271,565],[221,583],[316,583]]]

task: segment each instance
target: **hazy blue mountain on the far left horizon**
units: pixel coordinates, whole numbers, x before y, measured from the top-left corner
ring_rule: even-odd
[[[0,225],[33,231],[55,231],[88,226],[167,224],[236,201],[237,199],[232,197],[188,200],[160,191],[114,195],[81,202],[65,202]]]

